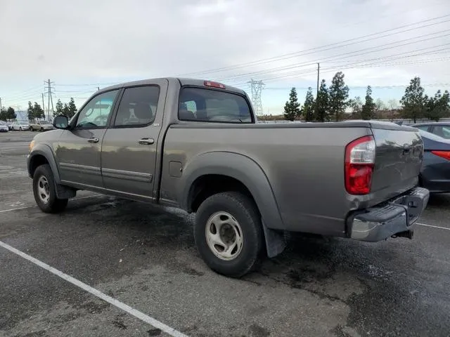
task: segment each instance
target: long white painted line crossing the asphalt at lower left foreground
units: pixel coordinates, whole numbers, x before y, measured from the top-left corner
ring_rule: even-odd
[[[116,300],[115,298],[112,298],[111,296],[106,295],[105,293],[102,293],[101,291],[92,288],[91,286],[88,286],[87,284],[79,281],[78,279],[75,279],[74,277],[71,277],[70,275],[67,275],[63,272],[60,272],[59,270],[51,267],[50,265],[47,265],[44,262],[41,262],[40,260],[37,260],[37,258],[33,258],[30,255],[27,255],[23,253],[23,251],[19,251],[18,249],[15,249],[12,246],[9,246],[8,244],[5,244],[4,242],[0,241],[0,246],[4,249],[8,249],[8,251],[11,251],[12,253],[17,254],[18,256],[25,258],[25,260],[29,260],[31,263],[34,263],[35,265],[38,265],[41,268],[44,268],[45,270],[48,270],[53,275],[56,275],[60,277],[61,279],[65,279],[65,281],[70,282],[71,284],[74,284],[75,286],[78,286],[79,288],[83,289],[84,291],[87,291],[91,293],[94,296],[97,296],[98,298],[101,298],[102,300],[105,300],[105,302],[108,302],[115,307],[123,310],[124,312],[127,312],[129,315],[132,315],[138,319],[141,319],[141,321],[146,322],[155,328],[160,329],[161,331],[164,331],[165,333],[168,333],[170,336],[173,337],[188,337],[184,333],[181,333],[179,331],[176,331],[175,329],[171,328],[170,326],[167,326],[166,324],[158,321],[157,319],[154,319],[153,317],[150,317],[143,312],[140,312],[139,310],[136,310],[134,308],[131,308],[129,305],[126,305],[125,303],[120,302],[119,300]]]

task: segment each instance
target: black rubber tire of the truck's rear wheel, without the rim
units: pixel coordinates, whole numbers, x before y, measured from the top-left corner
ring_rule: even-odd
[[[206,238],[210,217],[224,211],[235,218],[242,230],[243,245],[233,260],[217,257]],[[261,216],[252,199],[239,192],[221,192],[207,198],[198,208],[194,223],[195,245],[205,263],[215,272],[228,277],[242,277],[259,262],[263,247]]]

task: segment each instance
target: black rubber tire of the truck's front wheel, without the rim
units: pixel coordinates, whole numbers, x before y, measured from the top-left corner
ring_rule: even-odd
[[[49,200],[44,202],[39,197],[38,184],[41,177],[44,177],[48,182]],[[39,209],[44,213],[59,213],[64,211],[65,206],[68,205],[68,199],[58,199],[56,197],[55,180],[53,179],[53,172],[49,164],[43,164],[37,167],[33,176],[33,194]]]

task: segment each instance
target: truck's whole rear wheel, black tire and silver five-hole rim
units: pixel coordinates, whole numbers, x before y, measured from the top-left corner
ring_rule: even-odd
[[[194,237],[208,267],[221,275],[242,277],[257,265],[262,251],[262,223],[255,202],[239,192],[212,195],[198,208]]]

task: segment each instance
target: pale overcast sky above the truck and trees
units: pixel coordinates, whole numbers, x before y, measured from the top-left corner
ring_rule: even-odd
[[[290,88],[315,93],[317,62],[350,98],[371,85],[398,103],[416,76],[450,89],[448,0],[1,0],[0,22],[0,98],[21,110],[48,79],[53,105],[79,106],[97,87],[183,76],[249,95],[262,80],[264,114],[281,114]]]

